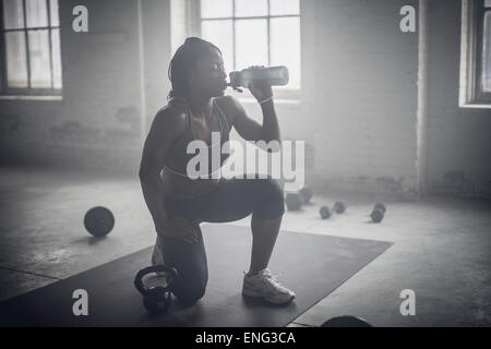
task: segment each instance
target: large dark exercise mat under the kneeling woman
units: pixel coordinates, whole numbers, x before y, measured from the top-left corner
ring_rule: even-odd
[[[167,314],[151,316],[133,287],[149,265],[152,248],[74,275],[0,304],[0,325],[12,326],[286,326],[330,294],[392,243],[282,231],[270,267],[297,293],[275,306],[241,296],[250,262],[248,227],[204,225],[208,260],[206,294],[189,306],[172,299]],[[88,316],[72,312],[75,289],[88,292]]]

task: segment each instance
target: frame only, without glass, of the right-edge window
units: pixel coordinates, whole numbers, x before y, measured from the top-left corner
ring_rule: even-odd
[[[482,50],[486,12],[484,0],[463,0],[460,46],[459,107],[491,108],[491,92],[483,92]]]

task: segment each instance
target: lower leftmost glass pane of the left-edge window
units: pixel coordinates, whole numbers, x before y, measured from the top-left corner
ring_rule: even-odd
[[[24,33],[5,33],[5,50],[8,86],[27,87],[27,64]]]

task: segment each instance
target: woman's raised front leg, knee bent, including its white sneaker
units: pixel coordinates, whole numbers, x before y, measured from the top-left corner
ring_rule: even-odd
[[[285,213],[278,182],[271,178],[223,180],[205,200],[199,203],[199,207],[206,207],[202,210],[203,221],[237,220],[252,213],[251,265],[243,277],[242,294],[261,297],[274,304],[290,302],[295,292],[282,286],[267,268]]]

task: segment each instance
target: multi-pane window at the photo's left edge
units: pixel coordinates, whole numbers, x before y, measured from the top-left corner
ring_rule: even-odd
[[[3,94],[61,93],[58,0],[2,0]]]

